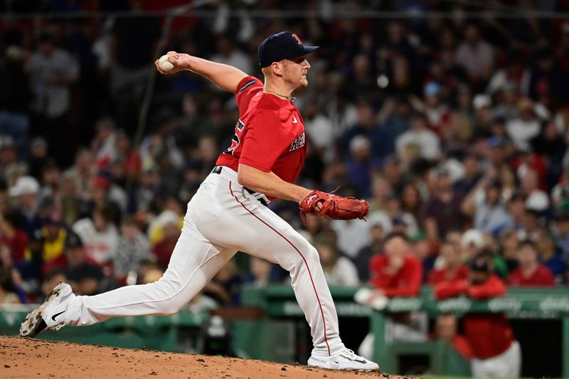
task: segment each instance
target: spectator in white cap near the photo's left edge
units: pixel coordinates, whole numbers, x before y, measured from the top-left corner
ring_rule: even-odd
[[[11,186],[8,190],[8,194],[16,200],[16,210],[25,219],[25,230],[28,234],[41,228],[41,222],[37,217],[39,191],[40,185],[38,181],[31,176],[20,176],[14,186]]]

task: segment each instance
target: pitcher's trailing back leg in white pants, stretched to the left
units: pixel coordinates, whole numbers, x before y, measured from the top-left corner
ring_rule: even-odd
[[[174,314],[188,303],[235,255],[212,245],[190,223],[184,223],[168,269],[157,282],[127,286],[70,301],[65,324],[91,325],[115,316]]]

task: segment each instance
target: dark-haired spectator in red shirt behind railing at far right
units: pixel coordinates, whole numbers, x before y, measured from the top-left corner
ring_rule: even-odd
[[[508,284],[515,287],[554,287],[551,271],[538,261],[538,247],[531,240],[523,240],[518,246],[519,267],[508,277]]]

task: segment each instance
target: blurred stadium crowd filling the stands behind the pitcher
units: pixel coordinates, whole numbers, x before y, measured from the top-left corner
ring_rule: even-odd
[[[472,272],[484,271],[520,301],[498,311],[521,343],[522,374],[569,375],[563,296],[553,311],[521,312],[536,287],[536,299],[568,293],[568,10],[564,0],[0,1],[0,331],[17,333],[11,311],[40,303],[61,280],[97,294],[161,277],[238,110],[230,93],[192,73],[159,75],[154,60],[176,50],[261,78],[257,45],[289,30],[321,46],[294,103],[308,139],[297,183],[339,187],[371,212],[303,224],[296,203],[269,206],[317,247],[335,298],[361,306],[350,314],[344,304],[346,318],[339,310],[346,344],[357,350],[383,312],[394,324],[425,321],[418,336],[393,340],[444,339],[464,361],[488,358],[469,341],[464,309],[402,318],[353,300],[360,287],[420,299],[440,283],[473,286]],[[388,253],[390,233],[405,238]],[[487,264],[473,265],[477,257]],[[265,306],[271,288],[285,288],[276,297],[294,307],[288,280],[236,255],[188,304],[186,314],[203,315],[188,321],[195,333],[161,347],[305,363],[311,345],[298,314],[275,321],[273,338],[282,333],[288,346],[278,356],[247,351],[239,331],[267,318],[246,310]],[[149,345],[139,334],[115,343],[135,340]],[[379,364],[433,373],[425,354]]]

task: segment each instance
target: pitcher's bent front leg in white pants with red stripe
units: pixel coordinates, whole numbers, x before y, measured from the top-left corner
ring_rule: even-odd
[[[218,245],[232,246],[287,269],[294,294],[310,325],[314,353],[329,356],[342,351],[338,316],[317,250],[272,210],[243,191],[234,190],[230,182],[225,185],[228,191],[218,194],[223,213],[215,222],[201,223],[201,233]]]

